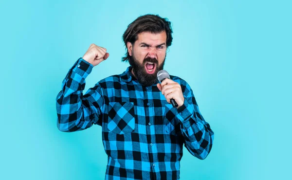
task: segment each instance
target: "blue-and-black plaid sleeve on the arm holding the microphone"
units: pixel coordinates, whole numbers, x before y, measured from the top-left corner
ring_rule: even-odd
[[[178,108],[178,119],[184,137],[184,145],[195,157],[203,160],[211,151],[214,132],[204,120],[191,88],[186,86],[187,95],[184,104]]]

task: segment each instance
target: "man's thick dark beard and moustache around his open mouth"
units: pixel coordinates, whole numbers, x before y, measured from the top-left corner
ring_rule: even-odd
[[[163,70],[166,54],[165,54],[165,58],[164,58],[163,62],[161,63],[161,65],[158,65],[158,60],[156,58],[150,58],[150,57],[145,58],[143,60],[143,63],[140,64],[139,61],[136,59],[133,52],[132,52],[132,54],[133,55],[129,56],[128,60],[129,60],[129,64],[133,67],[133,72],[134,72],[135,76],[137,77],[138,82],[144,86],[151,86],[151,85],[155,84],[156,82],[158,82],[157,73],[160,70]],[[146,69],[145,69],[146,62],[155,63],[156,69],[155,69],[154,73],[148,74],[146,72]]]

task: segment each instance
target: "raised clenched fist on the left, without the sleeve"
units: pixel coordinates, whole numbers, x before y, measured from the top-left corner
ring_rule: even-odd
[[[91,63],[93,66],[98,65],[110,56],[107,49],[91,44],[87,52],[83,55],[83,59]]]

